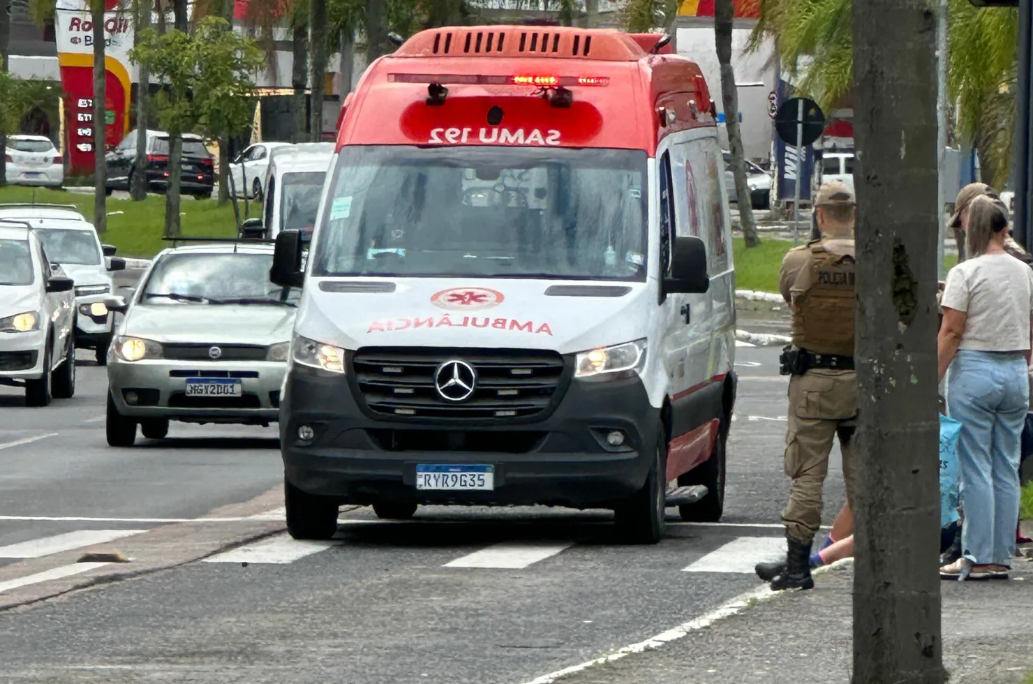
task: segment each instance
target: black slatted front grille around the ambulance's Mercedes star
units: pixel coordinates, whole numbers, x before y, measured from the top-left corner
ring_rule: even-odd
[[[434,386],[441,364],[458,360],[477,374],[462,402],[442,399]],[[367,347],[352,359],[363,401],[393,417],[455,421],[510,419],[537,415],[558,399],[563,357],[534,349],[414,349]]]

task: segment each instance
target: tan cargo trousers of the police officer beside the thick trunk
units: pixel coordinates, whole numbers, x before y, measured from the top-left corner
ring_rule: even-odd
[[[792,478],[789,503],[782,511],[786,533],[811,541],[821,526],[821,490],[828,474],[828,454],[839,435],[846,495],[853,505],[858,464],[853,453],[857,419],[857,374],[812,370],[789,378],[785,474]]]

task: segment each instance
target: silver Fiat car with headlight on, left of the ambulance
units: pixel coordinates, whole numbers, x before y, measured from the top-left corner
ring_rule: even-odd
[[[107,443],[131,446],[169,421],[278,418],[300,292],[269,280],[273,247],[211,243],[151,262],[107,353]]]

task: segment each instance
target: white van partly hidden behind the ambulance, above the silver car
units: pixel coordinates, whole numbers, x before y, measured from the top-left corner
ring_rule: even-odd
[[[246,220],[242,237],[261,235],[275,239],[281,230],[295,229],[307,234],[307,238],[315,225],[334,144],[282,146],[274,148],[270,156],[261,218]]]

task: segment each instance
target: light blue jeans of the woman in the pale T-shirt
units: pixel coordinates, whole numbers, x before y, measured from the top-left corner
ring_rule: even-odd
[[[1011,565],[1019,520],[1019,461],[1029,410],[1021,354],[960,349],[947,403],[962,424],[962,553],[973,563]]]

